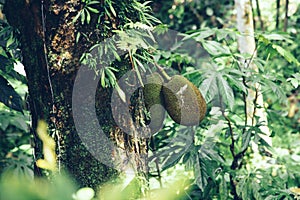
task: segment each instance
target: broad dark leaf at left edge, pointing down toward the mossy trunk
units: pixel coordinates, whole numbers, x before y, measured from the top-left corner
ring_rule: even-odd
[[[6,106],[23,113],[22,98],[8,83],[8,81],[0,75],[0,102]]]

